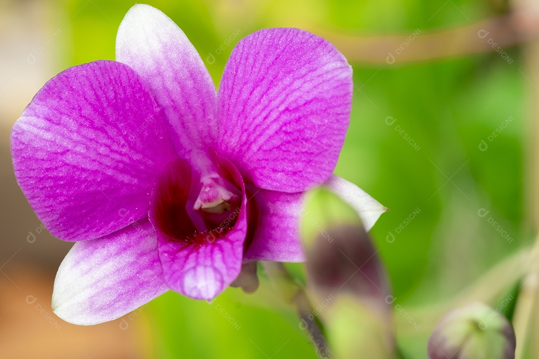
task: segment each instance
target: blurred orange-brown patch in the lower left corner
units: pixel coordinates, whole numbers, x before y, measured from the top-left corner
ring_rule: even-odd
[[[21,250],[22,251],[22,250]],[[20,252],[19,252],[20,253]],[[9,262],[0,277],[0,357],[150,358],[144,313],[84,327],[67,323],[51,309],[54,272],[43,265]]]

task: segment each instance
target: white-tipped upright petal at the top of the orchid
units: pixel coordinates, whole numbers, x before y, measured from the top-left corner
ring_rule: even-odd
[[[160,10],[137,4],[118,29],[116,60],[148,83],[168,118],[179,157],[207,172],[211,163],[205,150],[217,138],[217,92],[183,31]]]

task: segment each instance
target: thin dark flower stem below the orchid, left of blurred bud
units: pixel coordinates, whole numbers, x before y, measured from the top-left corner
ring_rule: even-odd
[[[306,330],[311,344],[319,358],[329,359],[332,357],[331,349],[328,346],[319,323],[309,315],[313,312],[305,288],[300,285],[285,266],[280,262],[261,262],[273,284],[277,287],[282,299],[294,305],[300,319],[300,328]]]

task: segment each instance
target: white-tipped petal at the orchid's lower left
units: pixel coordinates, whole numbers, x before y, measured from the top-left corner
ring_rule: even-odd
[[[147,219],[96,240],[75,243],[54,281],[60,318],[93,325],[119,318],[168,290]]]

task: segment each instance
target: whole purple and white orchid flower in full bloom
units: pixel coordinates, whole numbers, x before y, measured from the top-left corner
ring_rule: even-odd
[[[333,45],[284,28],[239,41],[217,91],[182,30],[133,6],[116,61],[55,76],[11,133],[31,207],[52,235],[76,242],[54,312],[93,325],[168,290],[211,300],[244,263],[304,261],[303,198],[317,186],[369,229],[385,208],[332,175],[352,94]]]

